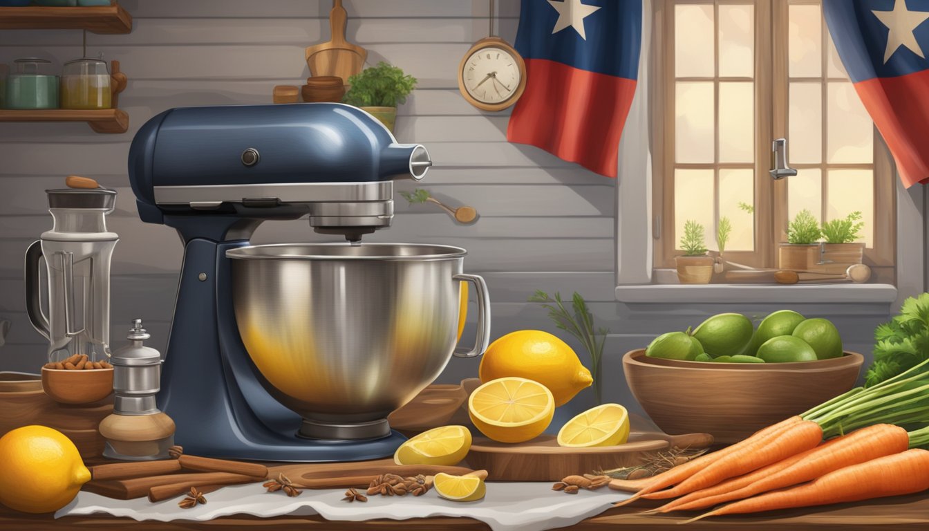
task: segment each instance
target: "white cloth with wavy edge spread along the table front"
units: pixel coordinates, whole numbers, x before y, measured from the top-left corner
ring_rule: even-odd
[[[491,526],[493,531],[543,531],[577,524],[609,509],[630,494],[604,487],[565,494],[551,483],[488,483],[487,496],[478,501],[456,502],[439,498],[430,490],[424,496],[372,496],[367,503],[343,501],[346,489],[304,490],[295,498],[283,492],[268,493],[260,484],[229,486],[209,493],[206,505],[180,509],[184,497],[150,503],[147,498],[112,499],[89,492],[55,513],[56,518],[108,513],[135,520],[193,520],[202,522],[231,514],[260,517],[320,514],[326,520],[361,522],[374,518],[406,520],[433,516],[465,516]]]

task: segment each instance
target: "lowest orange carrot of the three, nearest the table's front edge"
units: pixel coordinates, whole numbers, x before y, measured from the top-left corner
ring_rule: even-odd
[[[816,481],[742,499],[687,520],[707,516],[813,507],[885,498],[929,489],[929,451],[911,449],[831,471]]]

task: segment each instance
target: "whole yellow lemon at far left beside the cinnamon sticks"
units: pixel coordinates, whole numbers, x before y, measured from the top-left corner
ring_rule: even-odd
[[[90,481],[71,439],[46,426],[8,431],[0,456],[0,503],[16,511],[58,511]]]

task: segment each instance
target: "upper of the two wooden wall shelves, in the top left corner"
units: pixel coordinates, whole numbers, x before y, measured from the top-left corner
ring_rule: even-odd
[[[0,30],[87,30],[129,33],[132,15],[123,7],[0,7]]]

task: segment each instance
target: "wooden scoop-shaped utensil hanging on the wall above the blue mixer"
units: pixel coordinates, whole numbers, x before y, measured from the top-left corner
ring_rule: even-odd
[[[337,75],[347,84],[348,78],[360,73],[368,50],[346,41],[347,13],[342,7],[342,0],[333,1],[329,12],[329,28],[332,37],[329,42],[307,46],[307,66],[309,73],[318,75]]]

